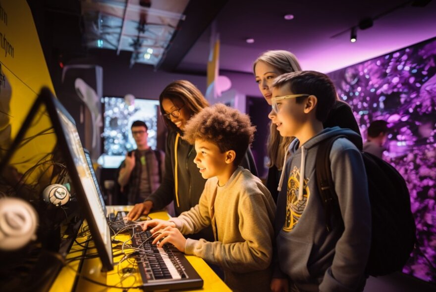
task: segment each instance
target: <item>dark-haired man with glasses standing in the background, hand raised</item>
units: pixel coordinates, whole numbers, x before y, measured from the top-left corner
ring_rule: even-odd
[[[127,195],[129,205],[143,202],[159,188],[164,173],[165,157],[163,151],[153,150],[148,145],[146,123],[134,121],[131,130],[137,148],[127,153],[117,179],[121,194]]]

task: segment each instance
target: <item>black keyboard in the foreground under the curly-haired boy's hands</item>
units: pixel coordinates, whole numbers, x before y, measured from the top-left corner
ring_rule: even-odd
[[[136,256],[138,269],[145,290],[180,290],[203,287],[203,279],[198,275],[185,255],[172,244],[163,248],[152,244],[150,230],[131,230],[132,246],[145,252]]]

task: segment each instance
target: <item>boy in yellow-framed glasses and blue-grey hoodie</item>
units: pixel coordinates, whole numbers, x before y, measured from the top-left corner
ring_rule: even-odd
[[[287,178],[277,199],[276,257],[272,291],[363,291],[371,244],[371,209],[361,138],[349,129],[323,127],[336,91],[327,75],[300,71],[278,76],[272,85],[272,123],[289,146]],[[316,179],[319,144],[333,143],[330,168],[336,208],[326,215]],[[352,142],[351,142],[352,141]]]

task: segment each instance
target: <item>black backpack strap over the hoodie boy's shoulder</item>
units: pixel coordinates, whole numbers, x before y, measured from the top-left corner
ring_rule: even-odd
[[[337,195],[334,190],[334,182],[331,177],[330,168],[330,150],[333,146],[334,141],[339,138],[346,138],[344,135],[339,135],[332,137],[330,139],[324,140],[320,143],[317,150],[316,158],[316,178],[318,192],[321,196],[321,201],[324,206],[324,211],[326,214],[326,227],[327,231],[331,230],[331,213],[334,205],[334,201],[337,201]]]

